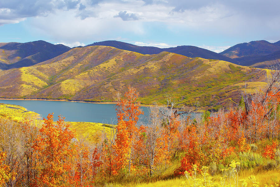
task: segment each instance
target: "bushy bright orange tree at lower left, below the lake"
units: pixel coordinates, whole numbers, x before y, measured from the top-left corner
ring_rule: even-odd
[[[35,186],[64,186],[70,172],[69,159],[72,157],[72,138],[74,133],[64,117],[53,121],[53,115],[44,118],[35,150],[39,153],[38,176]]]

